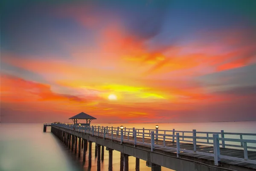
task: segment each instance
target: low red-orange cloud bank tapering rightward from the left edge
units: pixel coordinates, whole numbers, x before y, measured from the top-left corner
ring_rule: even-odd
[[[1,102],[67,101],[87,103],[87,100],[69,94],[51,91],[50,85],[1,74]]]

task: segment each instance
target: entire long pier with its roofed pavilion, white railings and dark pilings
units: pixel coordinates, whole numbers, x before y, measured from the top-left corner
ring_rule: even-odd
[[[256,171],[256,134],[204,131],[138,129],[90,125],[95,117],[84,112],[70,117],[73,124],[44,123],[44,132],[51,132],[67,148],[83,155],[91,167],[92,143],[95,143],[97,171],[108,151],[108,171],[112,171],[113,150],[120,152],[120,171],[128,171],[129,156],[136,157],[135,171],[140,171],[140,160],[145,160],[151,171],[161,167],[176,171]],[[80,123],[86,120],[86,123]],[[81,151],[83,149],[83,151]],[[86,153],[88,161],[86,161]]]

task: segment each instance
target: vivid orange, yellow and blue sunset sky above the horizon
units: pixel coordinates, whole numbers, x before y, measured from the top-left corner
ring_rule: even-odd
[[[1,122],[256,120],[255,0],[2,0]]]

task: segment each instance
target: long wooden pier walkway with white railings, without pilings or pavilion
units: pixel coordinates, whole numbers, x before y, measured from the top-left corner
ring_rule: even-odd
[[[121,153],[177,171],[187,170],[188,168],[184,166],[186,162],[189,162],[186,165],[190,165],[190,167],[192,166],[191,162],[194,164],[193,169],[189,168],[191,171],[202,170],[200,165],[207,166],[207,170],[211,171],[256,170],[256,134],[224,133],[221,131],[219,134],[222,138],[219,138],[218,134],[196,132],[195,130],[172,130],[170,131],[171,134],[166,134],[167,130],[163,130],[165,134],[154,134],[154,131],[159,132],[161,130],[148,131],[146,129],[125,128],[128,131],[124,131],[119,128],[79,127],[61,124],[52,124],[51,126]],[[148,133],[145,133],[145,131],[148,131]],[[182,133],[182,136],[179,136],[179,133]],[[194,136],[184,136],[184,134],[190,133]],[[196,136],[196,134],[203,133],[207,137]],[[212,137],[210,137],[210,134],[212,134]],[[224,138],[224,134],[238,134],[240,139]],[[243,135],[253,138],[252,140],[244,140],[242,139]],[[234,143],[227,144],[226,142]],[[237,142],[239,145],[236,144]],[[227,148],[227,146],[233,148]],[[247,150],[247,148],[251,150]]]

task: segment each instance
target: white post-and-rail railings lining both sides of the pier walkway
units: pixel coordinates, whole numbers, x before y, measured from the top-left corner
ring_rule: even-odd
[[[220,132],[202,132],[202,131],[177,131],[173,130],[158,130],[156,129],[136,129],[136,128],[119,128],[119,127],[103,127],[103,126],[79,126],[69,124],[52,124],[58,127],[67,128],[73,131],[78,131],[92,136],[108,138],[110,140],[120,140],[123,142],[132,142],[134,146],[137,144],[145,144],[151,146],[151,151],[155,148],[166,148],[173,150],[177,157],[183,152],[191,154],[201,154],[204,156],[214,157],[215,165],[218,165],[220,159],[235,160],[256,164],[256,160],[248,159],[248,149],[255,151],[256,149],[256,134],[250,133],[228,133],[221,130]],[[237,136],[239,138],[225,138],[225,135]],[[247,140],[243,136],[250,137]],[[140,137],[140,140],[137,139]],[[146,141],[150,139],[150,141]],[[162,140],[159,142],[158,140]],[[175,143],[176,148],[166,146],[166,143]],[[180,142],[188,142],[193,144],[193,150],[188,150],[180,146]],[[227,143],[228,142],[228,143]],[[197,145],[213,146],[213,150],[209,152],[201,152]],[[220,154],[220,148],[233,147],[244,150],[244,158],[230,157]]]

